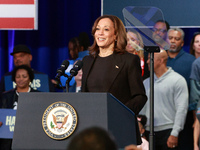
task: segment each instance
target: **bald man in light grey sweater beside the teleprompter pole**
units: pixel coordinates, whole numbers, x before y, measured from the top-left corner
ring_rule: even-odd
[[[179,148],[179,133],[184,127],[188,108],[188,88],[185,79],[167,67],[167,52],[154,54],[154,135],[156,150]],[[150,56],[147,60],[150,65]],[[150,67],[150,66],[149,66]],[[144,80],[146,95],[150,99],[150,78]],[[140,114],[147,116],[149,134],[150,101]],[[147,136],[148,137],[148,136]]]

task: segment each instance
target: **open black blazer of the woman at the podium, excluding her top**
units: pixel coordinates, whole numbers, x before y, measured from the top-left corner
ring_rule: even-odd
[[[113,67],[110,68],[112,73],[108,74],[111,84],[107,87],[107,92],[137,115],[147,101],[141,77],[140,59],[127,52],[125,54],[114,53],[111,57]],[[87,78],[95,60],[96,57],[93,56],[83,58],[82,92],[88,92]]]

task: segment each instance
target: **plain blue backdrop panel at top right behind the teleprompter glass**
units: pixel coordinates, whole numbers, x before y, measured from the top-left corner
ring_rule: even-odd
[[[122,9],[127,6],[157,7],[171,26],[200,27],[199,0],[103,0],[103,14],[112,13],[123,20]]]

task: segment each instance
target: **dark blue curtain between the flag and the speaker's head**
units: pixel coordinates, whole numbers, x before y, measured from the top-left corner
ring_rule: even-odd
[[[9,71],[10,34],[14,45],[26,44],[32,51],[32,68],[54,78],[57,68],[69,58],[68,41],[87,32],[101,15],[101,0],[39,0],[38,30],[0,31],[0,77]],[[10,63],[9,63],[10,62]]]

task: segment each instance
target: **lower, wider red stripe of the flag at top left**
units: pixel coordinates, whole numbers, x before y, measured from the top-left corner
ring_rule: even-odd
[[[1,29],[33,29],[34,18],[0,18]]]

